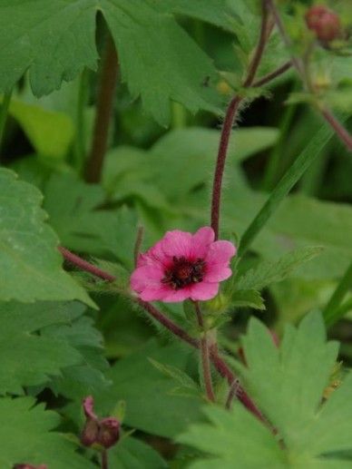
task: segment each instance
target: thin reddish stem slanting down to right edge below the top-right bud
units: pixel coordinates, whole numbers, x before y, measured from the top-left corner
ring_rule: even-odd
[[[275,5],[274,0],[265,0],[268,10],[272,13],[275,19],[275,23],[278,26],[279,33],[281,34],[283,42],[286,44],[288,49],[292,47],[292,42],[288,36],[285,25],[279,15],[278,8]],[[292,64],[295,66],[298,74],[300,75],[303,83],[305,84],[308,91],[312,94],[315,93],[314,86],[310,82],[310,76],[308,73],[308,60],[305,61],[299,60],[298,57],[291,55]],[[341,122],[337,121],[337,118],[332,114],[332,112],[324,105],[316,106],[318,111],[321,113],[323,118],[328,122],[331,128],[336,132],[338,139],[343,142],[348,151],[352,151],[352,135],[347,131],[347,129],[342,125]]]

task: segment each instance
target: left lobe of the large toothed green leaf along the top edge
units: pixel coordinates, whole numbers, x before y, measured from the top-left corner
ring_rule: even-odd
[[[95,0],[3,1],[1,89],[11,88],[27,68],[38,96],[73,80],[85,66],[95,69],[95,11]]]

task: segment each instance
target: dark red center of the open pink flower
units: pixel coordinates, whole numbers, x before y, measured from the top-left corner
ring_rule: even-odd
[[[203,259],[189,260],[185,257],[172,258],[172,265],[165,270],[161,279],[162,283],[169,285],[174,290],[187,287],[192,283],[199,283],[204,277],[205,261]]]

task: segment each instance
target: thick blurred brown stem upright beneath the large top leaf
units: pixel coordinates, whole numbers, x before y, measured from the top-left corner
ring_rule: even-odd
[[[92,150],[85,168],[85,180],[87,182],[99,182],[102,177],[103,159],[107,149],[117,73],[117,54],[112,36],[109,34],[104,51],[99,83]]]

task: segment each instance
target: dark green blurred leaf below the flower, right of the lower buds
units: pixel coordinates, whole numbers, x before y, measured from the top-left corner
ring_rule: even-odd
[[[173,437],[191,422],[200,418],[201,399],[174,396],[174,379],[161,375],[149,362],[151,358],[162,365],[186,371],[195,366],[194,356],[177,344],[161,347],[155,340],[137,352],[119,360],[107,377],[112,386],[96,397],[100,414],[109,415],[116,402],[126,401],[126,425],[153,435]],[[142,393],[142,398],[141,398]],[[158,415],[158,418],[155,418]]]

